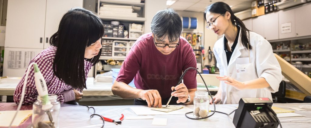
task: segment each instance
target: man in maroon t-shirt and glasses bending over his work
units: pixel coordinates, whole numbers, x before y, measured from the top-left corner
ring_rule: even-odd
[[[177,85],[183,71],[197,68],[191,45],[180,36],[182,30],[176,11],[158,11],[151,21],[152,33],[139,37],[125,58],[112,86],[113,94],[136,98],[134,105],[148,107],[162,107],[171,95],[170,104],[192,104],[197,90],[197,72],[188,70],[183,83]],[[136,89],[128,85],[133,78]],[[176,91],[171,93],[173,89]]]

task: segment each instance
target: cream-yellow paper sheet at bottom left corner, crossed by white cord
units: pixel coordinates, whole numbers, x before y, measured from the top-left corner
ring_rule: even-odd
[[[0,111],[0,127],[8,127],[15,115],[16,111]],[[18,111],[12,126],[19,126],[32,114],[32,110]]]

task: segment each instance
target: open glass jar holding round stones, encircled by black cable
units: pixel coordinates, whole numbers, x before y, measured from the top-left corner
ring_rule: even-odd
[[[207,117],[209,114],[210,98],[206,91],[195,91],[193,98],[193,116],[196,118]]]

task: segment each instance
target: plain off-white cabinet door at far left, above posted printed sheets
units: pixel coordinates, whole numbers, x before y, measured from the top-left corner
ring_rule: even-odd
[[[43,48],[46,0],[9,0],[4,47]]]

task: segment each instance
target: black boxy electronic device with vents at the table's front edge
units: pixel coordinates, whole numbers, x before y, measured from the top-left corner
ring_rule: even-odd
[[[277,128],[278,118],[269,98],[241,98],[234,113],[236,128]]]

